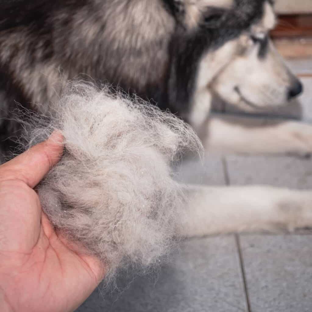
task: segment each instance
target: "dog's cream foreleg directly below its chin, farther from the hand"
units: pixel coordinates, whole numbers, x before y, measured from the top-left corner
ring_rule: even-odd
[[[203,127],[200,136],[208,151],[299,156],[312,153],[310,124],[226,116],[212,117]]]

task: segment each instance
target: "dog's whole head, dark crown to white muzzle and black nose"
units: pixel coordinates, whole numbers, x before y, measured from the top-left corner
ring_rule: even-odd
[[[228,103],[258,108],[285,105],[300,94],[302,84],[269,38],[276,24],[273,0],[173,2],[182,31],[193,38],[180,53],[206,51],[199,59],[195,94],[208,85]],[[192,60],[183,57],[179,62],[190,66]]]

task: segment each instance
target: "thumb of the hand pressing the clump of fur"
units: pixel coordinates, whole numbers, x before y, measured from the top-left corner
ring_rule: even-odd
[[[63,136],[54,131],[50,138],[0,166],[0,179],[22,180],[35,187],[59,161],[63,153]]]

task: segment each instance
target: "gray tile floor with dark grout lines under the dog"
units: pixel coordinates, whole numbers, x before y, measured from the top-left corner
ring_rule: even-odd
[[[312,61],[292,62],[306,72]],[[312,68],[311,71],[312,72]],[[304,78],[302,119],[312,121],[312,78]],[[310,86],[310,88],[309,88]],[[291,115],[291,114],[290,114]],[[183,177],[202,184],[269,184],[312,188],[312,160],[209,157],[185,164]],[[119,285],[128,285],[124,278]],[[97,289],[76,312],[311,312],[312,236],[243,234],[189,239],[158,275],[136,278],[122,292]]]

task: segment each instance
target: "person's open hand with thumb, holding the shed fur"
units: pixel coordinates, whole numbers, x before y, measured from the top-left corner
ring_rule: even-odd
[[[75,310],[105,273],[93,256],[66,241],[41,210],[33,188],[61,157],[51,137],[0,166],[0,310]]]

